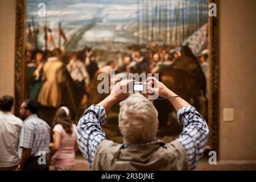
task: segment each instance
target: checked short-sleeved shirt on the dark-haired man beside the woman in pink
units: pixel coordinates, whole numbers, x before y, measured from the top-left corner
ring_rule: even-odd
[[[49,154],[50,132],[51,127],[36,114],[28,116],[19,135],[19,158],[22,148],[31,148],[31,156],[40,156],[42,152]]]

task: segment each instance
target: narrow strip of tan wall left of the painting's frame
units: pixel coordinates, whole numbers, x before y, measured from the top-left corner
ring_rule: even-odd
[[[15,0],[0,1],[0,96],[14,96]]]

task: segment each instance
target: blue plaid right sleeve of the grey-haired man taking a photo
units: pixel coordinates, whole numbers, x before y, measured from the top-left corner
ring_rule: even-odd
[[[207,123],[192,106],[182,107],[177,112],[177,116],[184,125],[177,140],[185,148],[189,166],[191,169],[195,169],[207,146],[209,133]]]

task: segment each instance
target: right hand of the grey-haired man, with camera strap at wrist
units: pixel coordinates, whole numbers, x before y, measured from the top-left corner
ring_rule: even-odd
[[[170,89],[167,88],[162,82],[158,81],[155,77],[147,78],[146,82],[152,85],[152,87],[148,87],[148,93],[158,93],[160,97],[168,98],[175,96],[174,93],[171,92]]]

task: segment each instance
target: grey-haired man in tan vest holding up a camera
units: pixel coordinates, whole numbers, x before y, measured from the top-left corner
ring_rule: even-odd
[[[184,125],[179,138],[164,143],[156,139],[158,112],[150,100],[142,94],[116,92],[133,80],[116,84],[112,93],[98,105],[85,110],[77,125],[77,142],[82,154],[93,170],[191,170],[195,169],[207,146],[208,126],[204,118],[188,102],[177,96],[162,82],[151,77],[158,92],[167,98],[177,111],[179,121]],[[128,97],[129,96],[129,97]],[[128,98],[126,98],[128,97]],[[125,99],[126,100],[123,100]],[[120,111],[118,127],[123,144],[107,140],[102,126],[106,113],[118,101]]]

